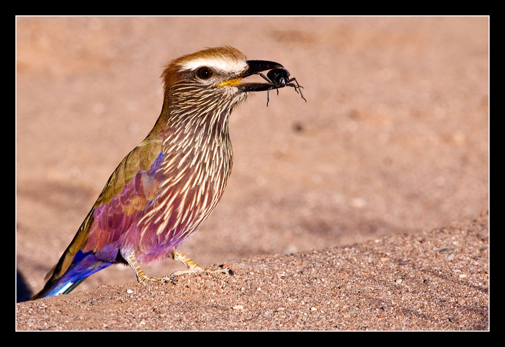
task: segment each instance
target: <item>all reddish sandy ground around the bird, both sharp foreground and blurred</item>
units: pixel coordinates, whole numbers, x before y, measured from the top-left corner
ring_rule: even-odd
[[[181,251],[236,276],[144,287],[114,266],[69,295],[17,303],[17,330],[489,329],[487,17],[16,27],[16,301],[42,288],[151,129],[170,59],[231,45],[283,64],[307,99],[282,89],[266,107],[258,93],[232,115],[234,171]]]

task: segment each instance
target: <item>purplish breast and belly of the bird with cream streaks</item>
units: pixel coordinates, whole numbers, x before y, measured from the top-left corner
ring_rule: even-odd
[[[179,87],[198,97],[190,85]],[[141,262],[167,257],[218,205],[233,162],[228,120],[234,104],[211,102],[200,99],[198,107],[171,111],[164,127],[163,161],[155,175],[158,197],[124,235],[123,255],[137,244],[135,256]],[[187,100],[177,104],[188,105]]]

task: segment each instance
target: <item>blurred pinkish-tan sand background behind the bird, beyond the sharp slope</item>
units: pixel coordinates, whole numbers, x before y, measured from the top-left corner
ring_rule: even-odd
[[[256,93],[232,115],[234,170],[181,248],[193,260],[415,235],[489,209],[488,17],[16,22],[18,301],[43,287],[111,172],[152,128],[163,67],[205,47],[283,64],[307,103],[284,88],[268,107]],[[176,269],[171,260],[145,267]],[[133,281],[112,266],[76,291]]]

